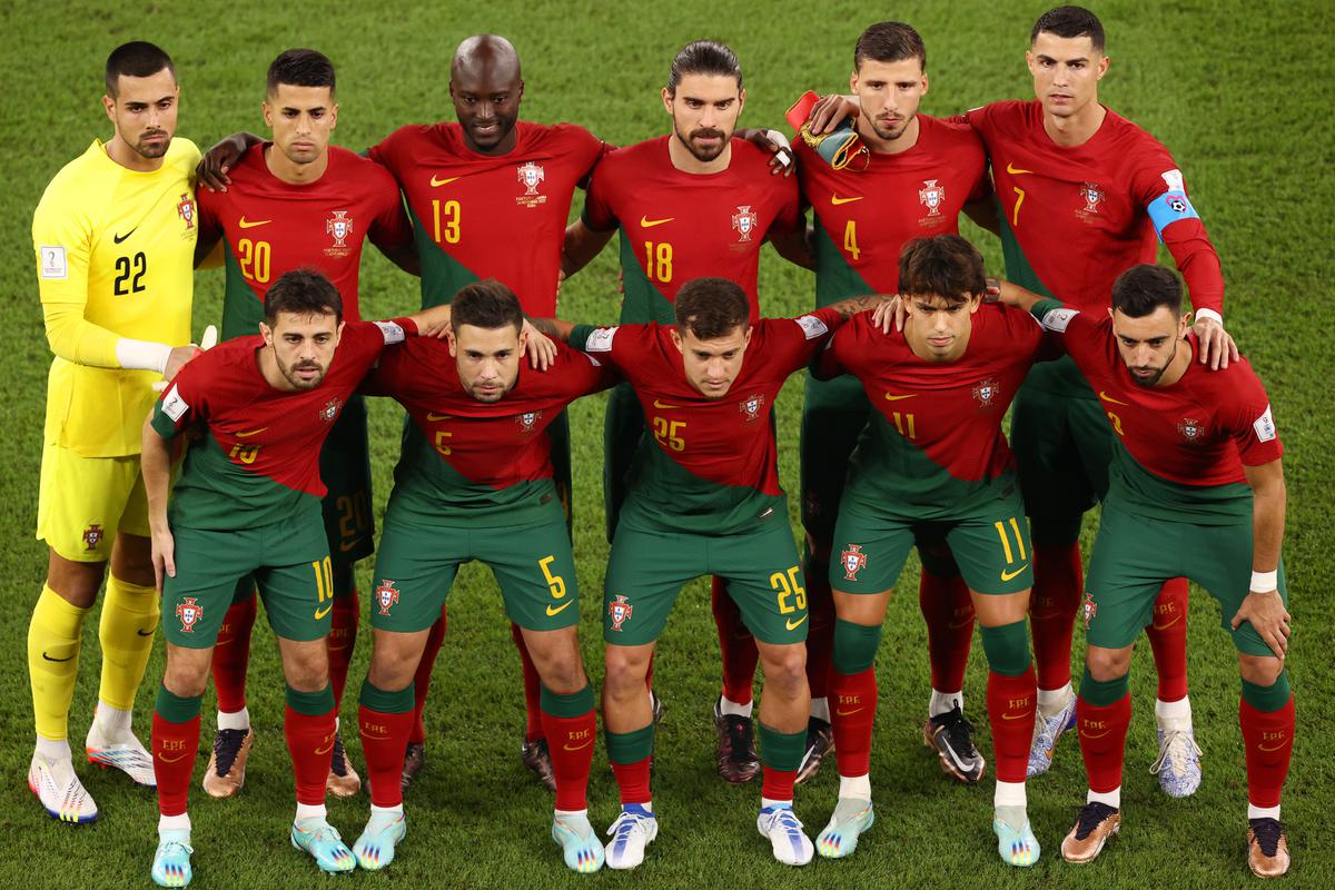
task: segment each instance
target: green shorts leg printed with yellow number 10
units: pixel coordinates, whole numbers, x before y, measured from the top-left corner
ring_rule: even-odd
[[[255,583],[274,634],[298,643],[327,636],[334,566],[319,516],[302,511],[256,531],[262,540]]]

